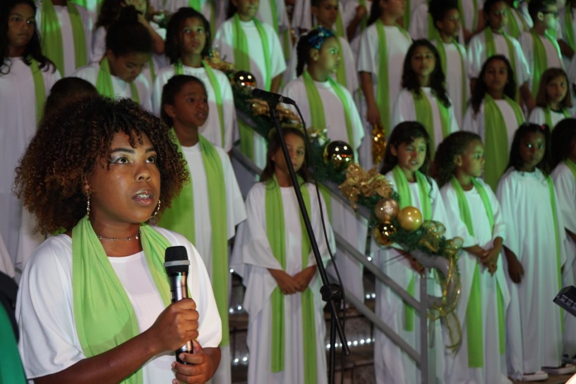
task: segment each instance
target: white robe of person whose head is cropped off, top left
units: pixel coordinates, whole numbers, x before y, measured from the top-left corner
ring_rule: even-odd
[[[36,10],[36,30],[40,33],[42,39],[42,0],[37,1],[38,9]],[[82,19],[82,26],[84,27],[84,39],[86,43],[86,63],[90,62],[90,54],[92,52],[92,20],[88,11],[78,4],[74,4],[78,9],[78,13]],[[70,22],[70,14],[68,7],[62,5],[55,5],[54,10],[60,22],[60,31],[62,33],[62,47],[64,50],[64,72],[61,73],[63,77],[69,77],[78,68],[76,67],[76,52],[74,51],[74,33],[72,30],[72,23]],[[62,72],[61,69],[59,69]]]

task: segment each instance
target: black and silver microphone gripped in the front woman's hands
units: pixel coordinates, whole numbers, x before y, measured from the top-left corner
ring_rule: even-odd
[[[170,282],[170,296],[172,296],[172,303],[188,297],[187,277],[188,270],[190,269],[190,260],[188,260],[188,253],[184,246],[174,246],[166,248],[164,257],[164,268],[168,274],[168,281]],[[193,353],[192,341],[186,342],[182,347],[176,350],[176,361],[181,364],[190,365],[180,359],[180,353]]]

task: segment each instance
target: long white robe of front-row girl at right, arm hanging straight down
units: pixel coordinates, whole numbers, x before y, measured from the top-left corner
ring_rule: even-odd
[[[555,192],[554,192],[555,193]],[[506,320],[506,353],[509,375],[557,367],[562,360],[560,308],[552,302],[559,291],[556,233],[550,205],[550,189],[542,172],[520,172],[509,168],[496,191],[506,225],[504,246],[524,268],[520,284],[506,273],[510,307]],[[556,194],[556,193],[555,193]],[[565,232],[556,196],[560,238],[560,265],[566,262]],[[502,254],[507,271],[505,255]]]

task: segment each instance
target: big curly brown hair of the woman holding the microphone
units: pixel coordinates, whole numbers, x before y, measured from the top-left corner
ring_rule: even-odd
[[[109,159],[118,132],[130,136],[132,147],[146,135],[156,149],[161,211],[180,193],[189,175],[160,119],[129,99],[87,97],[43,121],[16,168],[14,192],[36,215],[41,233],[71,229],[85,216],[82,187],[98,161]]]

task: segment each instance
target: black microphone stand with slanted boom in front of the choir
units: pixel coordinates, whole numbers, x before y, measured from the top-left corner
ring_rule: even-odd
[[[312,246],[312,252],[314,253],[314,258],[316,258],[316,266],[318,272],[320,273],[320,278],[322,279],[322,288],[320,288],[320,293],[322,295],[322,300],[329,303],[330,308],[330,353],[329,353],[329,375],[328,383],[334,384],[334,374],[336,370],[336,331],[338,331],[338,336],[340,337],[340,343],[342,344],[342,351],[344,355],[350,355],[350,348],[348,347],[348,342],[346,341],[346,335],[342,329],[342,324],[338,318],[338,310],[336,308],[340,307],[342,300],[342,287],[339,284],[329,283],[328,274],[324,268],[324,263],[322,262],[322,257],[320,255],[320,250],[318,249],[318,244],[316,243],[316,238],[314,237],[314,232],[312,230],[312,224],[310,224],[310,217],[306,211],[306,206],[304,205],[304,199],[302,198],[302,192],[300,191],[300,186],[298,185],[298,179],[296,178],[296,173],[294,172],[294,166],[290,160],[290,153],[288,152],[288,147],[286,146],[286,140],[282,134],[282,127],[280,125],[280,116],[278,115],[278,110],[276,106],[278,103],[275,101],[267,100],[268,107],[270,108],[270,116],[274,120],[274,125],[276,127],[276,134],[280,139],[280,144],[282,145],[282,152],[284,154],[284,159],[286,160],[286,165],[290,173],[290,179],[292,180],[292,187],[298,199],[298,206],[300,206],[300,213],[302,214],[302,219],[304,220],[304,225],[306,227],[306,232],[308,233],[308,238],[310,239],[310,246]],[[309,148],[308,142],[306,142],[306,148]],[[335,266],[336,267],[336,266]],[[341,367],[342,375],[344,374],[344,367]]]

